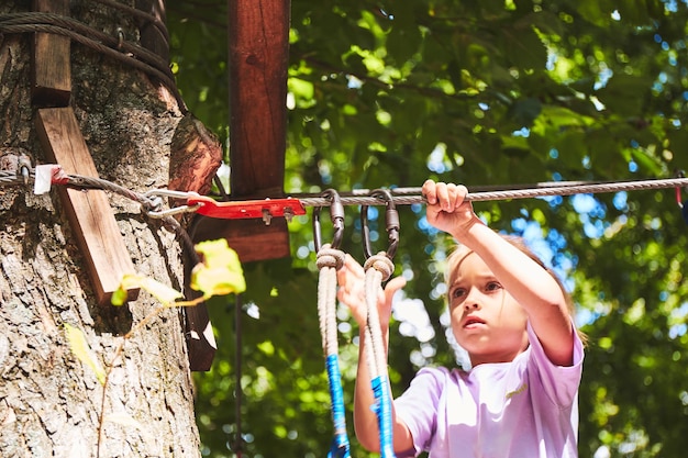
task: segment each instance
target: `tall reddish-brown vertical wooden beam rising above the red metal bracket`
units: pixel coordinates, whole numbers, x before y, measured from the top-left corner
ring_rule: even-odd
[[[228,9],[232,196],[282,197],[290,1],[230,0]]]

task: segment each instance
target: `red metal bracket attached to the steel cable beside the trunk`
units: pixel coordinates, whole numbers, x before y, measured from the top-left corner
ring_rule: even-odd
[[[273,216],[285,216],[289,221],[292,216],[306,214],[301,201],[293,198],[218,202],[206,196],[189,196],[187,205],[200,205],[196,213],[204,216],[223,220],[259,217],[267,224]]]

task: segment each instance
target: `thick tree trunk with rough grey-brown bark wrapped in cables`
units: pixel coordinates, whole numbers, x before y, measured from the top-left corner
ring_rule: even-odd
[[[25,11],[4,1],[0,14]],[[130,2],[133,3],[133,2]],[[97,2],[71,2],[70,14],[135,42],[136,21]],[[0,35],[0,155],[48,163],[31,104],[31,33]],[[71,42],[71,96],[100,178],[137,192],[165,188],[170,145],[184,119],[169,91],[145,74]],[[104,191],[85,191],[104,192]],[[184,288],[175,235],[141,206],[108,193],[135,270]],[[55,189],[0,183],[0,455],[93,457],[102,386],[75,357],[65,324],[84,331],[102,367],[122,336],[158,303],[141,292],[123,308],[99,305],[74,231]],[[199,456],[192,386],[178,310],[137,331],[114,364],[106,392],[101,457]]]

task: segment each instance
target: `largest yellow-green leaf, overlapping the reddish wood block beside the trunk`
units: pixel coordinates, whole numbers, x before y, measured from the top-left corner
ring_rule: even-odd
[[[226,239],[201,242],[196,250],[203,261],[191,271],[191,288],[202,291],[203,298],[238,293],[246,290],[246,280],[238,255]]]

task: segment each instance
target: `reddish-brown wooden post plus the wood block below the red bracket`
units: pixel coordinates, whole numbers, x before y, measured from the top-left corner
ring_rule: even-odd
[[[230,166],[233,199],[284,197],[289,0],[229,0]],[[284,219],[199,223],[197,239],[224,236],[242,261],[288,257]]]

